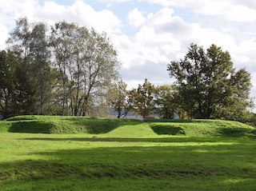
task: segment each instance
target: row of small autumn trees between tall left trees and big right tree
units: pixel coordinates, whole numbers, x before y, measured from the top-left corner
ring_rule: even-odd
[[[142,117],[158,115],[160,118],[174,118],[178,105],[174,102],[172,86],[154,86],[147,79],[137,89],[127,90],[126,82],[118,82],[110,92],[110,106],[118,118],[128,112]]]

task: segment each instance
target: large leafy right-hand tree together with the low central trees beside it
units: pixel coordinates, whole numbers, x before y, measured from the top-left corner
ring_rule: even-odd
[[[250,74],[236,71],[230,54],[212,45],[207,50],[191,44],[186,56],[179,62],[167,65],[171,86],[154,86],[147,80],[137,89],[126,90],[124,82],[118,82],[112,107],[118,117],[128,110],[141,114],[158,114],[161,118],[173,118],[178,113],[182,119],[226,119],[255,125],[254,107],[250,97]]]

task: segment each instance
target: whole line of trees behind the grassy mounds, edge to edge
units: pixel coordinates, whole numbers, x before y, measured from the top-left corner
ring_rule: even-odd
[[[250,74],[234,69],[230,54],[191,44],[186,56],[167,65],[171,86],[147,79],[127,90],[120,80],[117,51],[105,33],[57,22],[16,22],[0,52],[0,111],[21,114],[104,115],[128,112],[146,117],[222,118],[250,121],[254,113]]]

